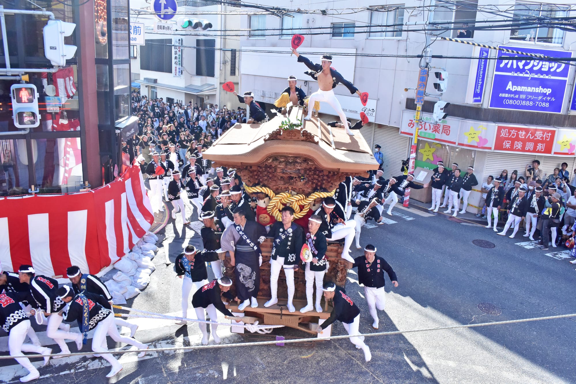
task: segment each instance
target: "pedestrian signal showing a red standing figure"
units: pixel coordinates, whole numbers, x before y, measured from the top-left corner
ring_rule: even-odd
[[[10,87],[12,118],[17,128],[34,128],[40,125],[38,91],[32,84],[14,84]]]

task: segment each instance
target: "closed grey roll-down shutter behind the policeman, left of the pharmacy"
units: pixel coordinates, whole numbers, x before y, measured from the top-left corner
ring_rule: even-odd
[[[401,175],[402,161],[407,159],[410,150],[410,138],[401,136],[400,129],[397,127],[376,124],[372,147],[376,144],[382,147],[380,150],[384,155],[382,162],[384,178],[389,179],[392,176]]]

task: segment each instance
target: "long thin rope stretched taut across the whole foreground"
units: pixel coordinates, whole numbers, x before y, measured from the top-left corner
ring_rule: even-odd
[[[562,319],[568,317],[576,317],[576,313],[569,314],[569,315],[555,315],[555,316],[546,316],[546,317],[534,317],[529,319],[517,319],[517,320],[505,320],[505,321],[495,321],[491,323],[478,323],[478,324],[461,324],[461,325],[450,325],[445,327],[435,327],[435,328],[423,328],[423,329],[410,329],[405,331],[390,331],[390,332],[375,332],[375,333],[360,333],[355,334],[353,336],[364,336],[364,337],[371,337],[371,336],[391,336],[395,334],[403,334],[403,333],[416,333],[416,332],[428,332],[434,330],[447,330],[447,329],[461,329],[461,328],[474,328],[474,327],[483,327],[483,326],[490,326],[490,325],[505,325],[505,324],[514,324],[514,323],[524,323],[529,321],[540,321],[540,320],[552,320],[552,319]],[[338,340],[340,338],[350,338],[350,335],[340,335],[340,336],[329,336],[323,338],[294,338],[294,339],[286,339],[282,340],[283,344],[286,343],[295,343],[295,342],[310,342],[310,340],[316,341],[324,341],[324,340]],[[105,352],[98,352],[100,355],[103,353],[132,353],[132,352],[166,352],[166,351],[186,351],[188,349],[210,349],[210,348],[228,348],[228,347],[256,347],[257,345],[271,345],[271,344],[278,344],[277,340],[271,341],[253,341],[253,342],[238,342],[234,344],[211,344],[211,345],[191,345],[190,347],[168,347],[168,348],[147,348],[147,349],[125,349],[122,351],[105,351]],[[94,352],[75,352],[75,353],[67,353],[66,356],[84,356],[84,355],[93,355]],[[44,356],[61,356],[59,353],[52,353],[50,355],[25,355],[25,356],[0,356],[0,360],[3,359],[13,359],[14,357],[44,357]]]

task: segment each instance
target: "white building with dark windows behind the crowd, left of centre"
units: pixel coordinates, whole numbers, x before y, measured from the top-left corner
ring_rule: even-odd
[[[176,16],[161,21],[150,14],[149,2],[130,2],[130,22],[145,25],[146,43],[131,46],[132,84],[141,86],[142,95],[162,97],[165,101],[192,101],[199,106],[232,102],[233,95],[224,92],[222,84],[232,81],[238,85],[239,44],[219,31],[238,28],[239,16],[223,14],[238,8],[205,0],[180,0],[177,4]],[[178,25],[182,17],[207,20],[212,28],[183,30]],[[166,25],[173,31],[163,33]]]

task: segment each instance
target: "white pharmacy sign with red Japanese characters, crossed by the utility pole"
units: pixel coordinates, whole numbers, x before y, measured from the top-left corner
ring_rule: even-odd
[[[432,121],[432,114],[422,112],[420,114],[422,128],[418,131],[418,136],[429,141],[441,142],[444,144],[456,145],[458,140],[458,127],[461,118],[448,116],[438,123]],[[400,134],[414,136],[414,125],[416,121],[416,111],[402,111],[402,120],[400,122]]]

